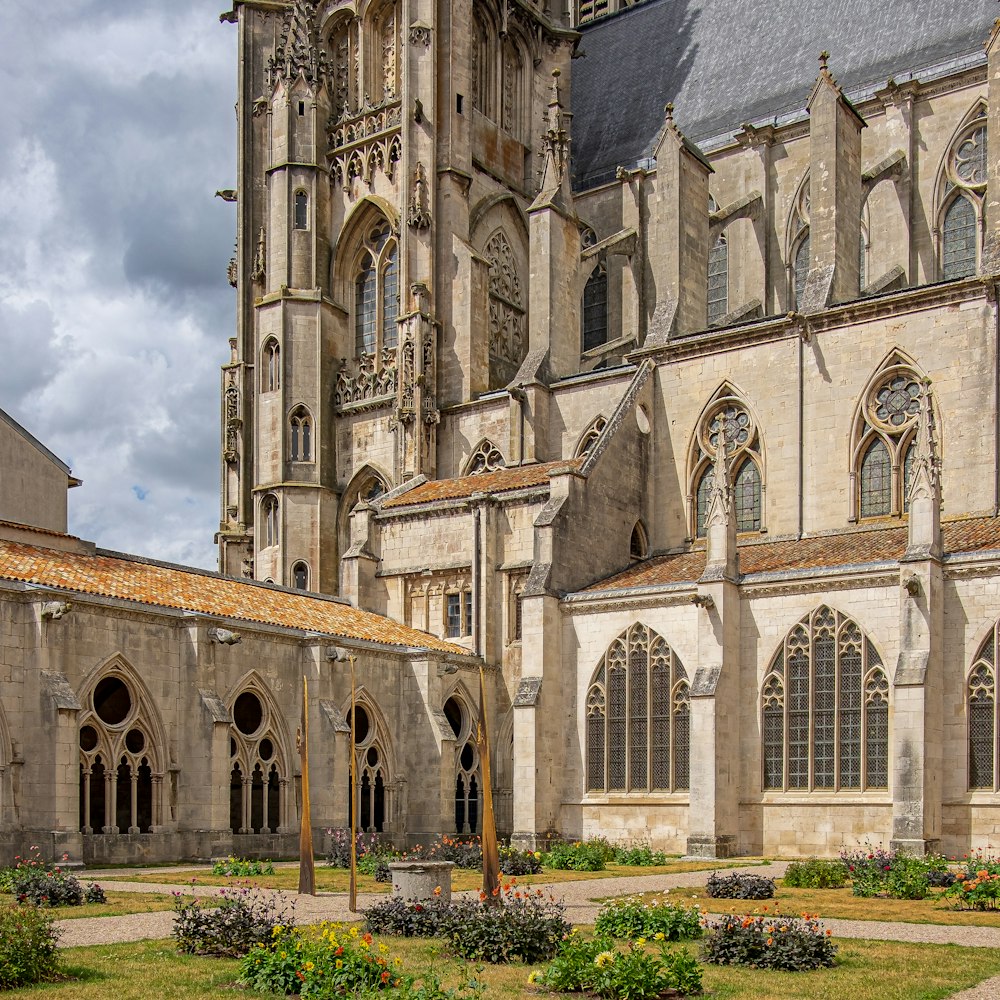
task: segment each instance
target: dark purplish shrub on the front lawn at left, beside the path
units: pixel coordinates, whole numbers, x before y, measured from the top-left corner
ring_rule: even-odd
[[[177,918],[170,933],[178,951],[240,958],[254,945],[271,941],[275,928],[294,923],[273,893],[242,886],[223,889],[217,898],[219,906],[204,907],[194,897],[174,893]]]

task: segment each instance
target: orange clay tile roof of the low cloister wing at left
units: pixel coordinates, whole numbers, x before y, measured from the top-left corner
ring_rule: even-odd
[[[0,539],[0,579],[385,645],[468,650],[381,615],[215,573],[122,555],[87,555]]]

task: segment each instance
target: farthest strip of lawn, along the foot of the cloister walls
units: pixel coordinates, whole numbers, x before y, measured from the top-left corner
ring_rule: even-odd
[[[765,864],[766,862],[749,862]],[[518,875],[518,885],[539,885],[545,883],[579,882],[594,878],[626,878],[635,875],[677,875],[683,872],[712,871],[716,868],[742,868],[747,864],[745,859],[738,862],[726,861],[672,861],[665,865],[654,865],[642,868],[637,865],[609,864],[601,872],[563,871],[546,868],[539,875]],[[295,891],[299,887],[298,866],[277,868],[273,875],[258,875],[252,878],[235,878],[226,875],[213,875],[211,867],[193,869],[185,868],[179,871],[164,869],[152,874],[122,875],[115,874],[102,878],[96,873],[96,879],[102,885],[114,882],[139,882],[147,885],[190,885],[192,879],[197,879],[198,885],[255,885],[264,889],[289,889]],[[504,881],[508,881],[504,876]],[[350,876],[344,868],[330,868],[325,864],[316,865],[316,888],[320,892],[347,892]],[[455,892],[464,889],[480,889],[483,884],[483,873],[469,868],[455,868],[452,871],[451,887]],[[359,892],[388,892],[391,886],[385,882],[376,882],[372,875],[358,873]]]

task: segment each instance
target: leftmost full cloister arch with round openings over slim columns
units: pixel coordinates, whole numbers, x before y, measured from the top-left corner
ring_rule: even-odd
[[[80,829],[148,833],[161,823],[164,748],[152,706],[127,669],[114,664],[83,699]]]

